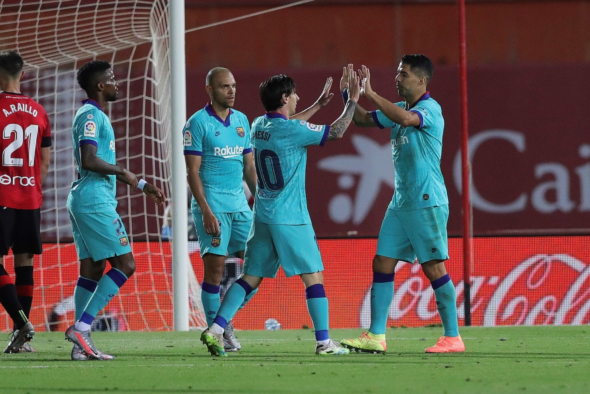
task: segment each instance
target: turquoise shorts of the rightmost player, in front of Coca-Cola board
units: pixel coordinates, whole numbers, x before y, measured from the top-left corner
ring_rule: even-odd
[[[411,211],[388,208],[379,231],[379,256],[414,263],[448,259],[448,204]]]

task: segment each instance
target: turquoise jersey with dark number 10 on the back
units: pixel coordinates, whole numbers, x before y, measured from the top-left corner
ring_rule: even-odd
[[[252,123],[252,147],[258,174],[254,221],[312,224],[305,195],[307,146],[326,142],[329,125],[289,120],[268,112]]]

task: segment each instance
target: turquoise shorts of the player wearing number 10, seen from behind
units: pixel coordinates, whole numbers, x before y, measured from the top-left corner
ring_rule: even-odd
[[[283,267],[287,277],[324,270],[311,224],[254,222],[246,242],[242,272],[274,278],[279,266]]]

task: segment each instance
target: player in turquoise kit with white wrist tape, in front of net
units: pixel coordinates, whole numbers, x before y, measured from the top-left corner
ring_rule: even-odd
[[[114,356],[94,346],[90,325],[135,272],[129,237],[116,211],[116,181],[143,190],[157,204],[163,204],[166,197],[115,160],[114,131],[103,112],[108,102],[117,99],[110,64],[88,62],[78,69],[77,79],[88,98],[82,101],[72,127],[78,180],[72,183],[67,208],[80,276],[74,289],[76,323],[65,331],[65,339],[74,343],[73,360],[112,360]],[[103,275],[107,260],[111,269]]]

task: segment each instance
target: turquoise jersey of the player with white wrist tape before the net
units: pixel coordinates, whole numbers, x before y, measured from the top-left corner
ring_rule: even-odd
[[[84,170],[80,160],[80,146],[93,144],[97,147],[97,157],[109,164],[116,164],[113,126],[96,101],[82,102],[84,105],[76,112],[72,127],[78,180],[72,183],[67,207],[72,212],[83,213],[113,211],[117,207],[116,176]]]

